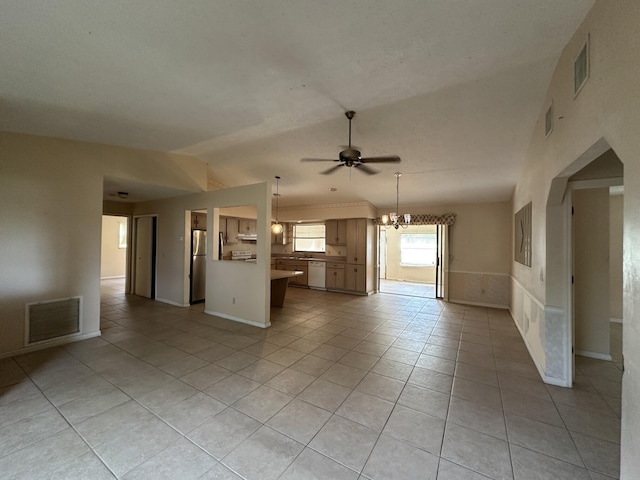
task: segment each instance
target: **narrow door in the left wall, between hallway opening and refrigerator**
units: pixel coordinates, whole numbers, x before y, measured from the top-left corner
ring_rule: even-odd
[[[133,293],[155,296],[155,217],[136,218],[135,281]]]

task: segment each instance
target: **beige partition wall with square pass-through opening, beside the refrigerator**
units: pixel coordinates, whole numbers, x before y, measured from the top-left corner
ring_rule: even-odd
[[[271,208],[270,192],[270,184],[260,183],[136,204],[134,217],[157,217],[156,298],[177,306],[189,304],[191,210],[206,210],[207,232],[213,233],[207,235],[205,312],[268,326],[271,224],[267,222],[267,212]],[[220,211],[240,205],[255,205],[256,208],[252,210],[257,216],[256,263],[218,260],[218,245],[214,239],[219,231]]]

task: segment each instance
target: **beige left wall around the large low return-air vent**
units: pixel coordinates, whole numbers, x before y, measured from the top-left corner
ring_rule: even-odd
[[[206,185],[197,159],[85,142],[3,132],[0,158],[0,356],[24,348],[30,302],[82,296],[78,338],[99,334],[104,176]]]

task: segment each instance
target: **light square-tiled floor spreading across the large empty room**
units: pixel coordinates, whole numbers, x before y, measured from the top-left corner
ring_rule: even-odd
[[[263,330],[103,286],[94,338],[0,361],[0,477],[618,476],[620,370],[547,386],[506,311],[289,289]]]

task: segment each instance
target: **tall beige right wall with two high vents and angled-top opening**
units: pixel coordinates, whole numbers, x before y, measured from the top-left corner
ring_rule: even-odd
[[[532,132],[513,213],[533,202],[533,265],[513,264],[511,312],[547,381],[570,384],[571,304],[562,182],[613,148],[624,163],[621,478],[640,471],[640,2],[599,0],[562,52]],[[590,36],[590,78],[574,96],[573,61]],[[553,101],[555,127],[545,138]],[[558,117],[562,117],[559,119]],[[527,321],[528,319],[528,321]]]

